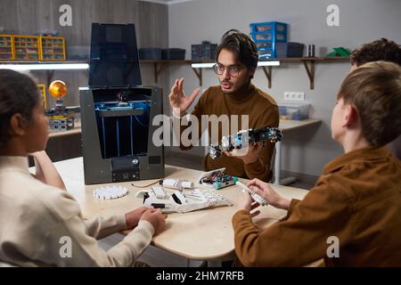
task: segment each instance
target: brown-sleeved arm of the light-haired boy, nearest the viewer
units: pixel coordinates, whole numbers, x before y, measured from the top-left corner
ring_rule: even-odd
[[[246,266],[302,266],[326,256],[335,236],[340,246],[350,240],[348,198],[340,184],[321,179],[302,201],[291,200],[289,215],[261,230],[250,213],[233,216],[235,253]]]

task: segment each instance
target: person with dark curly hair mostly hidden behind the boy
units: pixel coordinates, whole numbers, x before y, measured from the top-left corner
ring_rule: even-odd
[[[401,46],[387,38],[361,45],[351,54],[351,71],[364,63],[372,61],[390,61],[401,66]],[[391,154],[401,160],[401,135],[394,141],[389,142],[388,147]]]

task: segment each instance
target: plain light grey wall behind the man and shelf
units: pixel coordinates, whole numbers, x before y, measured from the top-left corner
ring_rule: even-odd
[[[340,6],[340,27],[328,27],[326,8]],[[401,1],[398,0],[196,0],[168,6],[169,46],[186,49],[191,59],[191,45],[202,40],[219,43],[230,28],[249,33],[251,22],[278,20],[291,24],[289,40],[312,43],[316,55],[324,56],[335,46],[356,48],[379,37],[401,43]],[[315,90],[309,89],[304,67],[299,63],[274,68],[273,85],[267,87],[266,77],[258,70],[253,83],[277,102],[284,91],[303,91],[312,103],[312,118],[320,118],[321,126],[285,135],[282,169],[308,175],[320,175],[323,166],[341,154],[341,148],[331,141],[330,119],[336,94],[349,70],[347,62],[318,63],[315,66]],[[185,91],[190,94],[199,86],[197,77],[187,66],[172,66],[170,85],[176,77],[185,77]],[[203,71],[203,88],[217,85],[211,69]],[[200,153],[194,151],[193,153]]]

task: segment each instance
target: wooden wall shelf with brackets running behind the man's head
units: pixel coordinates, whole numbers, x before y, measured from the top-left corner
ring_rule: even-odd
[[[269,59],[262,61],[280,61],[281,63],[303,63],[304,67],[307,71],[307,77],[309,78],[310,89],[315,88],[315,62],[347,62],[350,61],[349,57],[288,57],[288,58],[279,58],[279,59]],[[158,77],[160,73],[165,69],[169,64],[188,64],[192,63],[209,63],[214,62],[213,60],[201,60],[201,61],[140,61],[141,63],[151,63],[154,66],[154,81],[158,82]],[[265,72],[268,87],[272,88],[272,66],[262,66],[259,67],[263,69]],[[193,72],[199,79],[200,85],[202,85],[202,69],[201,68],[192,68]]]

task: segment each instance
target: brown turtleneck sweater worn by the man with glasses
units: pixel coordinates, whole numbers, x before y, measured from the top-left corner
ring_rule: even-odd
[[[231,116],[238,115],[238,129],[235,132],[241,130],[241,115],[249,115],[250,128],[279,126],[279,111],[276,102],[272,96],[266,94],[252,84],[244,85],[234,94],[223,93],[221,87],[218,85],[209,87],[209,89],[201,95],[199,102],[192,111],[192,115],[196,116],[200,122],[201,115],[216,115],[217,117],[228,115],[230,117],[230,129],[232,129]],[[183,132],[184,129],[185,127],[182,127],[181,131]],[[229,134],[234,134],[235,132],[232,130]],[[222,133],[222,126],[219,124],[218,144],[221,143]],[[201,137],[201,135],[199,137]],[[211,130],[209,128],[209,140],[210,138]],[[191,147],[181,147],[183,150],[189,148]],[[205,171],[225,167],[228,175],[249,179],[258,178],[268,182],[272,178],[271,159],[273,152],[274,143],[266,143],[266,146],[260,152],[258,161],[251,164],[244,164],[241,159],[227,157],[225,154],[223,154],[220,159],[211,159],[209,155],[207,155],[203,159],[203,167]]]

